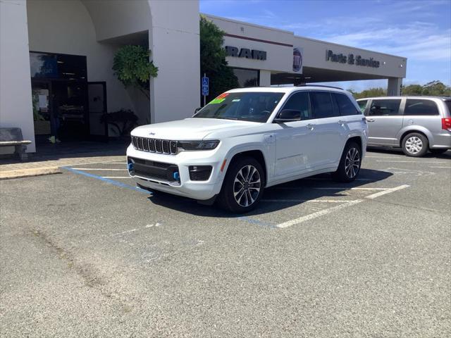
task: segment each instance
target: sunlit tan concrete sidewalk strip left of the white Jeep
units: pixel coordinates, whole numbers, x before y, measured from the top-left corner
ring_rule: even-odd
[[[36,158],[35,161],[23,163],[0,162],[0,180],[11,178],[39,176],[60,173],[59,168],[66,165],[125,161],[125,156],[89,156],[85,157],[66,157],[56,160]]]

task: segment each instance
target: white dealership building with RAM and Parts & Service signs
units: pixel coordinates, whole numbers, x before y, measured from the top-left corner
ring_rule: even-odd
[[[52,135],[105,139],[101,116],[121,109],[140,125],[189,117],[201,104],[199,15],[197,0],[0,0],[0,127],[20,127],[35,152]],[[242,87],[386,79],[400,94],[406,58],[205,16]],[[159,68],[149,98],[111,69],[127,44],[149,47]]]

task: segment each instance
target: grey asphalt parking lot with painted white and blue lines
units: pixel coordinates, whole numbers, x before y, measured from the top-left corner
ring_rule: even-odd
[[[451,151],[255,211],[137,189],[125,161],[0,181],[1,337],[449,337]]]

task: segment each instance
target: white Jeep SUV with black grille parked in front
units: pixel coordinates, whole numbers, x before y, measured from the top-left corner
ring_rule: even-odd
[[[265,187],[320,173],[357,177],[367,125],[348,92],[323,86],[233,89],[192,118],[131,132],[128,172],[150,191],[190,197],[236,213]]]

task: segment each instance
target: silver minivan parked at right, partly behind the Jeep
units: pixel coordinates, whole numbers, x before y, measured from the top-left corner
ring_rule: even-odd
[[[383,96],[358,99],[369,146],[401,147],[407,156],[451,149],[451,97]]]

